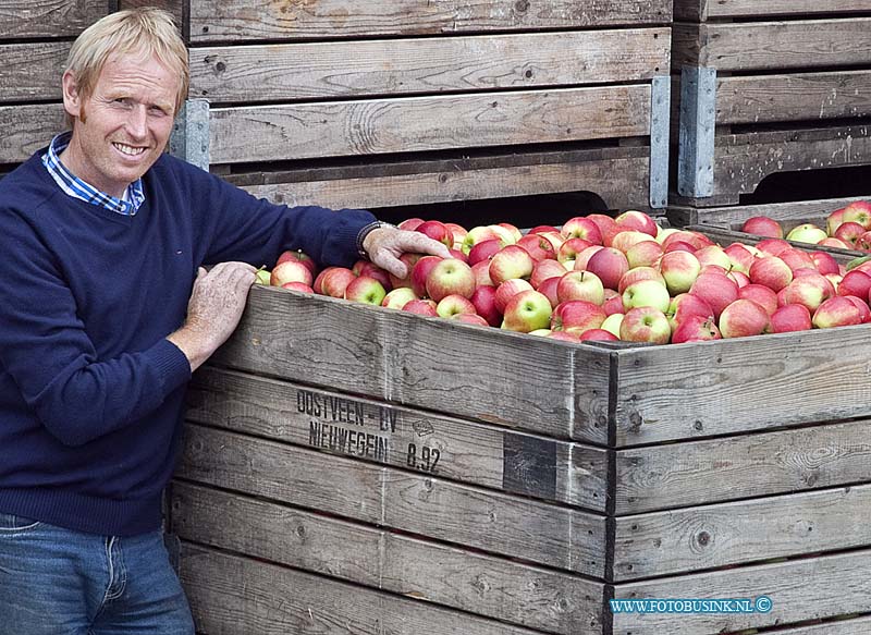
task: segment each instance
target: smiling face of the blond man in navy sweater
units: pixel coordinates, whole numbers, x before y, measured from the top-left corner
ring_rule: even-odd
[[[65,73],[63,103],[75,119],[61,160],[79,179],[120,198],[167,146],[177,90],[179,78],[154,57],[109,58],[85,98]]]

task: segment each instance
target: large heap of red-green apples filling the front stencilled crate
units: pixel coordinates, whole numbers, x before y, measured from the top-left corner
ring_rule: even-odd
[[[367,260],[318,270],[285,252],[261,282],[573,342],[683,343],[871,321],[871,261],[847,271],[780,237],[722,247],[636,210],[526,233],[419,218],[400,227],[441,241],[452,257],[403,254],[408,274],[398,279]]]

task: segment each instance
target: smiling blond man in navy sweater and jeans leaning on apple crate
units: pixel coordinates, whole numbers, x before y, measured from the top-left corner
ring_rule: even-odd
[[[63,73],[72,133],[0,182],[0,634],[192,634],[162,546],[184,390],[287,248],[447,256],[366,211],[289,209],[164,154],[187,93],[168,14],[112,14]],[[201,265],[214,265],[208,272]]]

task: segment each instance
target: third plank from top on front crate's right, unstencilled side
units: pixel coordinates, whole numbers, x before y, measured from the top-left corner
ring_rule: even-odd
[[[869,510],[861,485],[617,518],[614,579],[871,547]]]

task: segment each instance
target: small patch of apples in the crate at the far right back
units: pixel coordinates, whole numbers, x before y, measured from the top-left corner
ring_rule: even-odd
[[[836,209],[826,217],[825,229],[806,222],[794,227],[784,236],[783,225],[778,221],[766,216],[755,216],[744,221],[741,231],[811,245],[871,252],[871,203],[855,200],[847,207]]]

